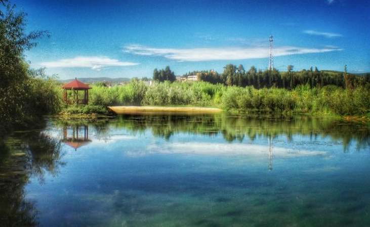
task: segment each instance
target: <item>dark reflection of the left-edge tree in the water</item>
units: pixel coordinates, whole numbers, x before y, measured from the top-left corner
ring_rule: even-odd
[[[63,156],[56,138],[40,132],[16,133],[0,152],[0,226],[37,226],[37,209],[25,198],[31,176],[57,174]]]

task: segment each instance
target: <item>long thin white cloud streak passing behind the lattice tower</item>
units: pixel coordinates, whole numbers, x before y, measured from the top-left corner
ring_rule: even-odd
[[[323,53],[331,51],[342,51],[340,48],[300,48],[300,47],[276,47],[274,56]],[[194,49],[161,49],[149,48],[141,45],[130,45],[124,47],[125,53],[144,56],[162,56],[167,59],[180,62],[197,62],[213,60],[240,60],[268,58],[269,48],[194,48]]]

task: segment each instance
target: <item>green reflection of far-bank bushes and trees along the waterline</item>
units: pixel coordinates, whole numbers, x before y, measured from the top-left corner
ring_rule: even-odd
[[[285,135],[288,141],[296,134],[306,135],[312,140],[331,138],[342,142],[347,151],[351,142],[357,149],[370,146],[370,126],[349,123],[335,118],[309,116],[235,116],[223,115],[121,115],[110,122],[111,127],[126,128],[133,134],[150,129],[156,137],[170,139],[176,133],[208,134],[221,133],[228,142],[242,142],[245,137],[275,138]]]

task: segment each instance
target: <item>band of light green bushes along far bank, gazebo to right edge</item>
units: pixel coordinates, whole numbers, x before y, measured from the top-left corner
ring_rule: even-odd
[[[147,86],[135,81],[124,86],[93,86],[93,106],[191,106],[243,112],[310,113],[370,116],[370,87],[344,89],[335,85],[310,88],[237,87],[208,82],[162,82]]]

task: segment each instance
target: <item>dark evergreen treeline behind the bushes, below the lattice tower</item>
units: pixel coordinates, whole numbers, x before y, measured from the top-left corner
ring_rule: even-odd
[[[336,85],[343,88],[353,88],[370,83],[370,74],[364,76],[347,73],[347,66],[344,66],[344,72],[338,71],[319,71],[317,67],[309,70],[293,71],[294,66],[287,66],[286,72],[279,72],[276,69],[271,71],[261,69],[257,70],[252,66],[246,71],[243,65],[238,67],[228,64],[224,67],[223,73],[210,71],[193,71],[184,74],[186,78],[189,75],[199,75],[199,80],[213,84],[221,83],[225,85],[253,86],[255,88],[278,87],[285,89],[294,89],[298,85],[308,84],[310,87],[321,88],[326,85]],[[154,77],[153,77],[154,78]],[[154,79],[155,80],[155,79]]]

